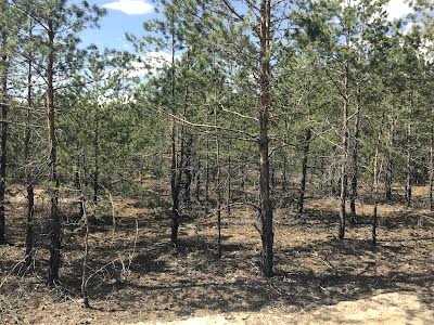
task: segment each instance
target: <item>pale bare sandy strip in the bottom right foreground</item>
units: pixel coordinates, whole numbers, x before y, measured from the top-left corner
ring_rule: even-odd
[[[142,322],[136,325],[276,325],[276,324],[432,324],[434,311],[414,295],[378,294],[369,299],[341,301],[310,312],[232,313],[174,322]]]

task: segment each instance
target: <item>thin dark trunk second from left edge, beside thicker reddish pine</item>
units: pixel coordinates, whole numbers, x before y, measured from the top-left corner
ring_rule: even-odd
[[[30,23],[29,38],[33,37],[33,23]],[[26,213],[26,268],[30,268],[34,262],[34,212],[35,212],[35,193],[34,180],[30,167],[30,139],[31,139],[31,107],[33,107],[33,52],[28,55],[27,67],[27,112],[26,127],[24,130],[24,165],[27,192],[27,213]]]

